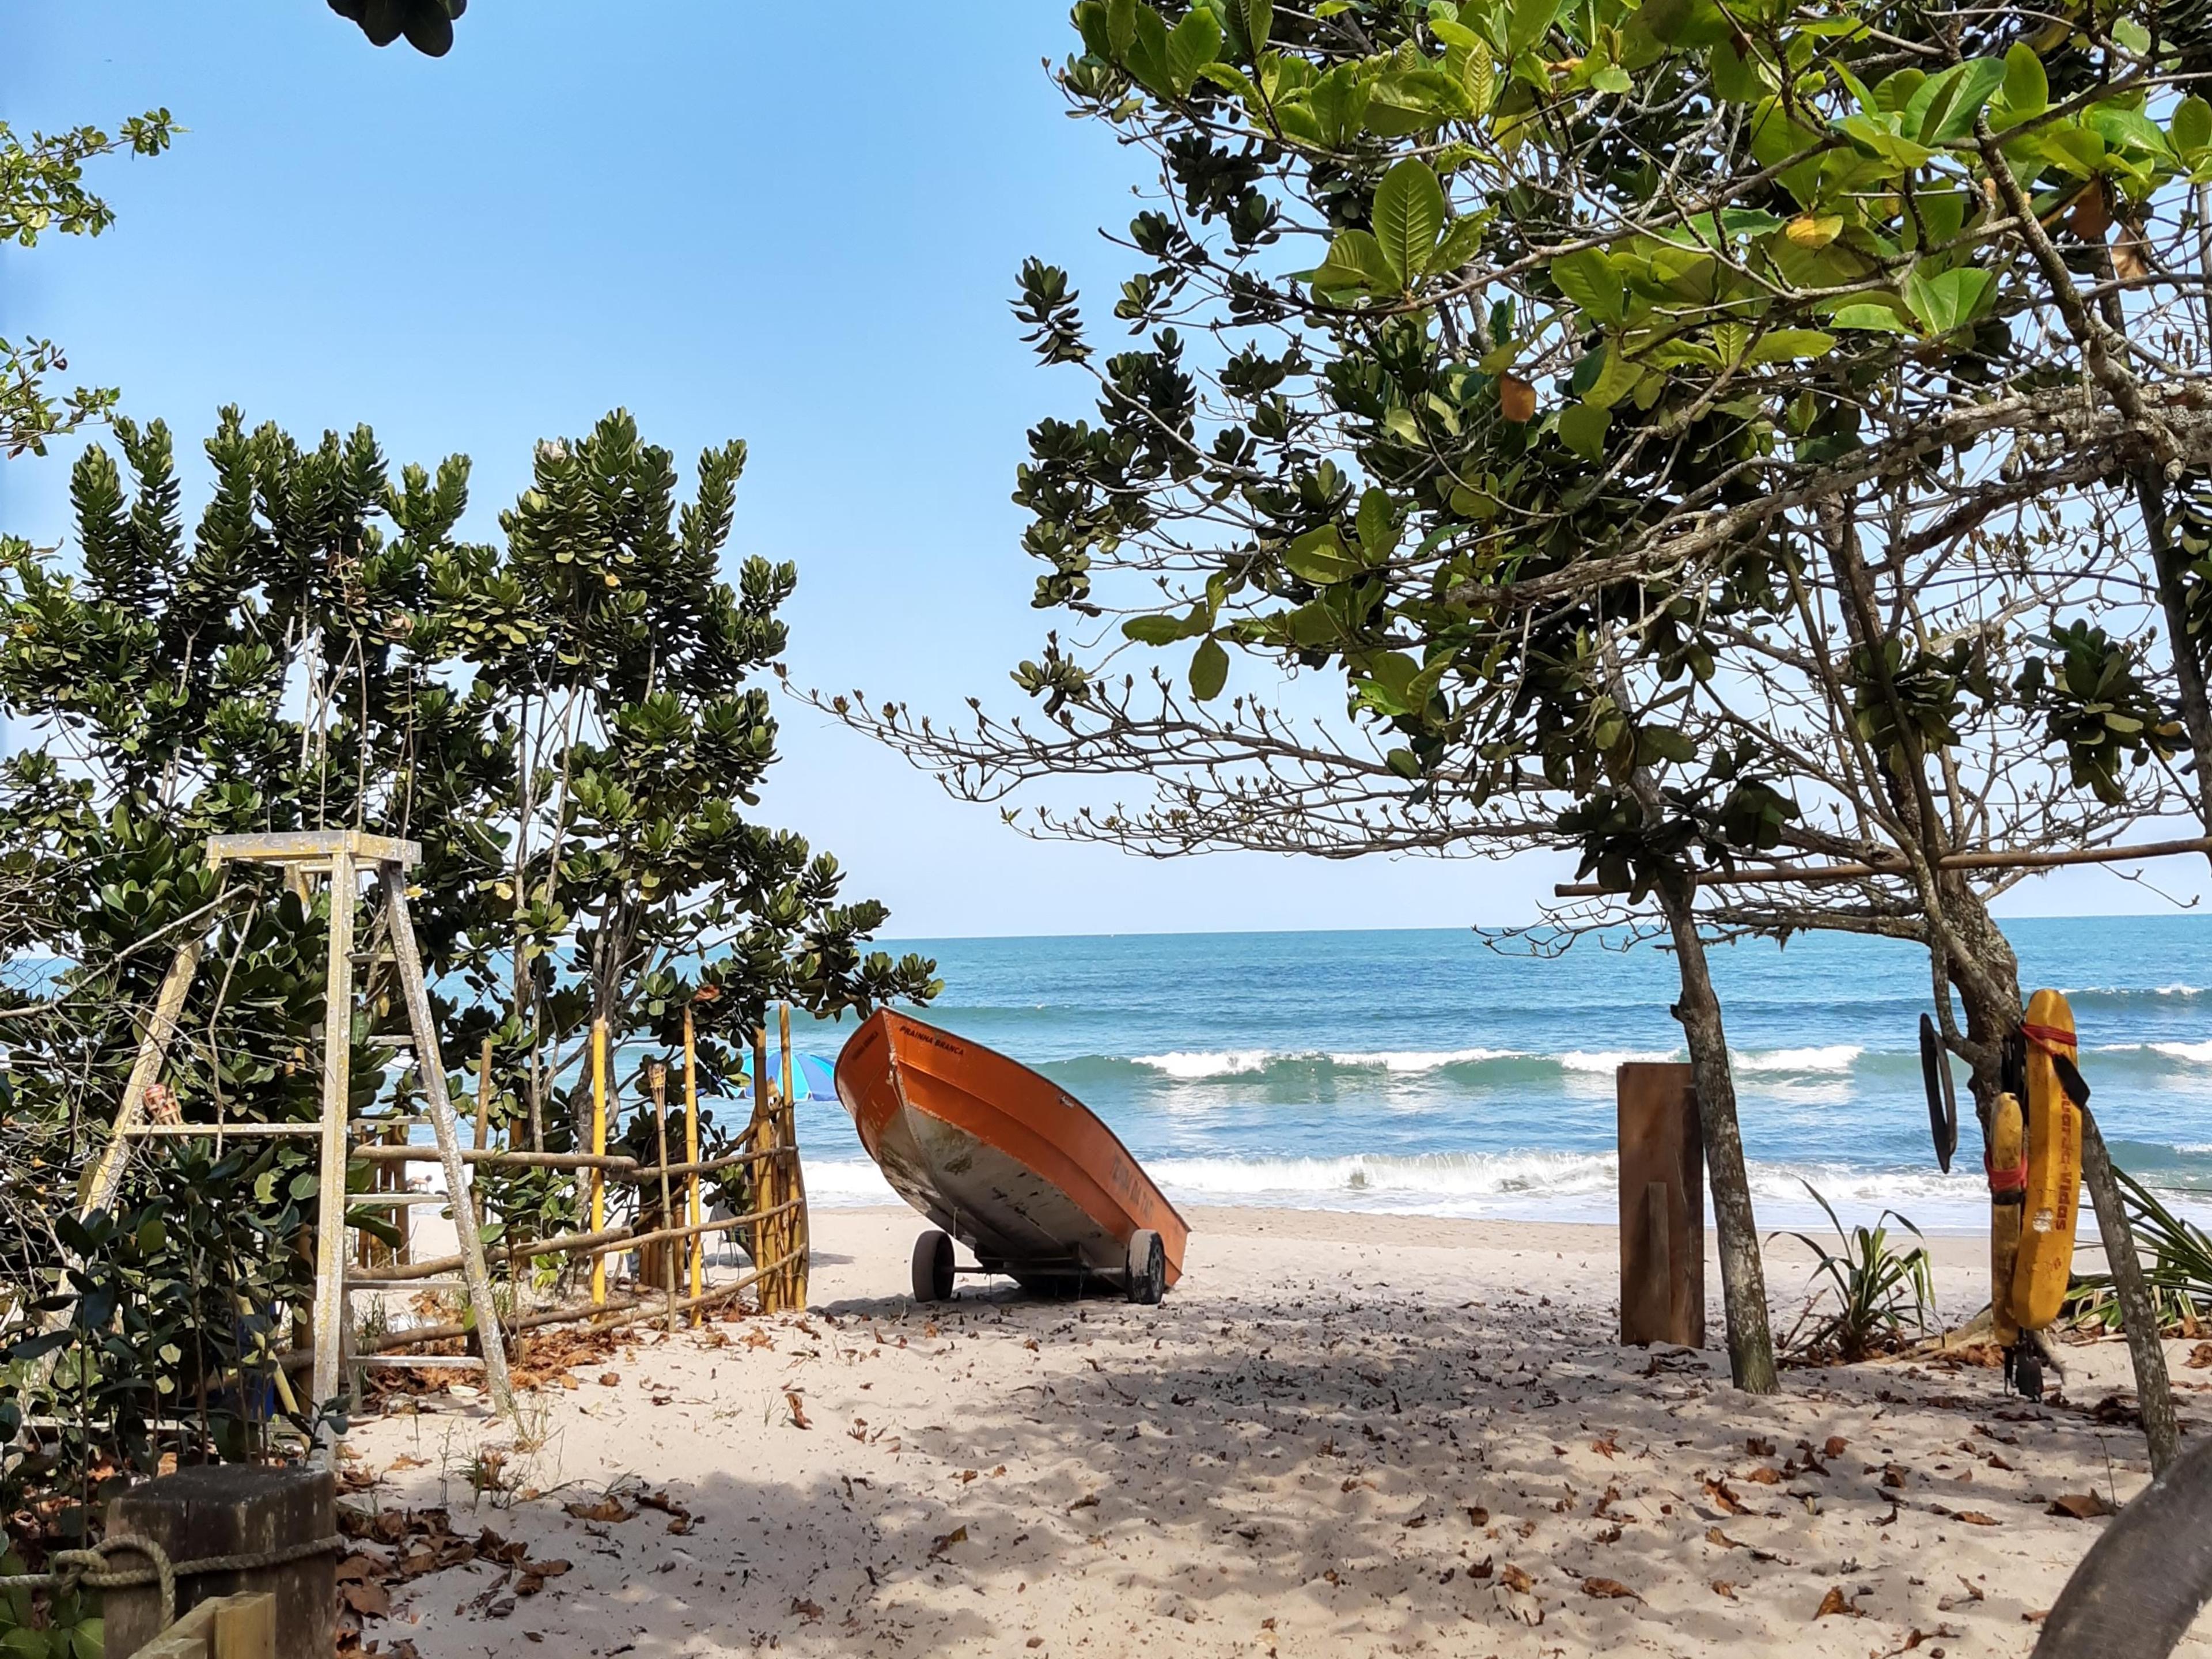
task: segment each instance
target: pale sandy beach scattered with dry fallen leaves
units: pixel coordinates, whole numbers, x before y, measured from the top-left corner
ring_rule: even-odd
[[[1610,1228],[1190,1219],[1157,1310],[980,1279],[918,1310],[918,1219],[821,1210],[805,1316],[635,1329],[535,1387],[520,1444],[465,1398],[398,1402],[349,1442],[345,1502],[383,1520],[347,1571],[389,1597],[365,1646],[2020,1655],[2104,1526],[2055,1500],[2148,1480],[2119,1343],[2068,1349],[2044,1407],[1898,1360],[1752,1400],[1712,1267],[1712,1347],[1615,1343]],[[1931,1248],[1964,1318],[1982,1245]],[[1807,1256],[1767,1272],[1787,1329]]]

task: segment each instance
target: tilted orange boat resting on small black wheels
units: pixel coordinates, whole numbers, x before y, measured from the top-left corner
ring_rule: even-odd
[[[836,1057],[836,1095],[883,1177],[936,1228],[914,1245],[916,1301],[953,1287],[953,1239],[1026,1290],[1084,1281],[1157,1303],[1190,1228],[1121,1139],[1029,1066],[891,1009]]]

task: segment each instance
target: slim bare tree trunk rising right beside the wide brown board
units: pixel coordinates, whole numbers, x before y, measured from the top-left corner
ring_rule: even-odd
[[[1712,991],[1705,940],[1697,931],[1694,887],[1661,883],[1659,905],[1674,936],[1681,969],[1681,1002],[1674,1018],[1690,1044],[1697,1077],[1697,1108],[1705,1130],[1705,1177],[1712,1186],[1712,1219],[1721,1245],[1721,1305],[1728,1312],[1728,1374],[1745,1394],[1776,1394],[1774,1334],[1767,1329],[1767,1272],[1759,1256],[1759,1221],[1752,1214],[1752,1181],[1743,1168],[1743,1133],[1736,1126],[1736,1079],[1728,1068],[1728,1031],[1721,998]]]

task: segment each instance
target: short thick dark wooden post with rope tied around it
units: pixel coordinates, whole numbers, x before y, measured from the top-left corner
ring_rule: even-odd
[[[199,1464],[148,1480],[108,1502],[108,1537],[135,1533],[173,1562],[250,1555],[332,1537],[336,1482],[327,1469]],[[124,1551],[115,1566],[144,1566]],[[281,1566],[195,1573],[177,1579],[177,1613],[215,1597],[274,1597],[274,1659],[330,1659],[336,1630],[336,1551]],[[106,1650],[135,1655],[159,1635],[161,1590],[153,1584],[106,1590]]]

